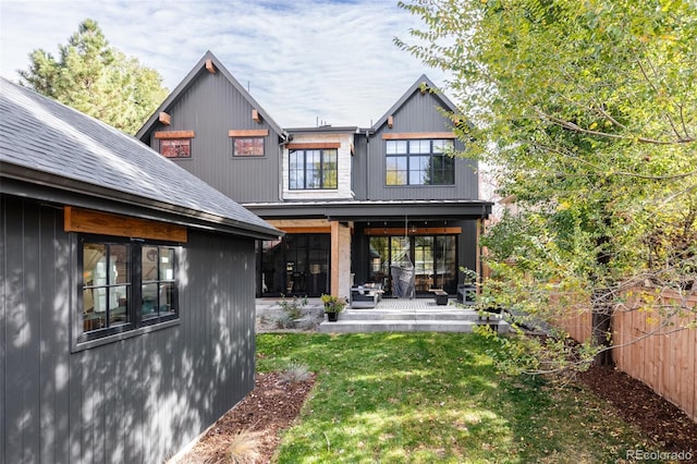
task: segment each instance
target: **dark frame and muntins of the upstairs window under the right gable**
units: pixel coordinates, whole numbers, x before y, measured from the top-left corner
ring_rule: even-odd
[[[419,144],[419,146],[424,143],[428,143],[428,151],[423,151],[418,149],[416,151],[412,151],[412,146],[415,144]],[[394,152],[389,152],[390,144],[394,144],[395,146],[400,143],[403,143],[406,147],[405,151],[399,151],[399,148],[395,149]],[[442,147],[442,151],[435,151],[436,144]],[[452,157],[448,156],[449,150],[455,149],[455,142],[452,138],[390,138],[384,141],[384,185],[387,187],[440,187],[440,186],[453,186],[456,184],[455,182],[455,160]],[[429,171],[425,171],[419,169],[418,158],[428,157],[428,166]],[[402,170],[390,170],[390,159],[396,160],[398,158],[405,159],[405,169]],[[419,172],[428,172],[428,174],[433,178],[433,174],[437,172],[435,169],[433,160],[441,159],[443,162],[447,159],[451,161],[450,172],[452,174],[452,182],[449,183],[415,183],[412,182],[412,176]],[[413,166],[414,163],[414,166]],[[406,181],[404,183],[390,183],[389,176],[391,173],[398,178],[399,172],[405,172]],[[443,172],[445,172],[443,170]]]

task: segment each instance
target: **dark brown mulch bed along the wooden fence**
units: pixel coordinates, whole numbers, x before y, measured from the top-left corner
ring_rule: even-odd
[[[690,451],[697,459],[697,423],[646,383],[612,367],[591,367],[579,379],[665,451]]]

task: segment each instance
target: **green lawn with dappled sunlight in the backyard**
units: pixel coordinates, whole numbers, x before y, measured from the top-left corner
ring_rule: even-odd
[[[496,371],[474,334],[260,334],[258,370],[317,384],[281,463],[613,463],[645,437],[577,386]]]

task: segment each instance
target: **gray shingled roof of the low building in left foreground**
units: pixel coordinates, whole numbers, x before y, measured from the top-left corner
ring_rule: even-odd
[[[180,223],[259,239],[282,233],[108,124],[0,77],[0,190],[27,184],[112,200]],[[59,195],[60,194],[60,195]]]

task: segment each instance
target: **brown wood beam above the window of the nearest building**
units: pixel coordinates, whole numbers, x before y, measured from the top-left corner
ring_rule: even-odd
[[[184,243],[186,228],[168,222],[151,221],[110,212],[65,206],[63,208],[65,232],[96,233]]]

